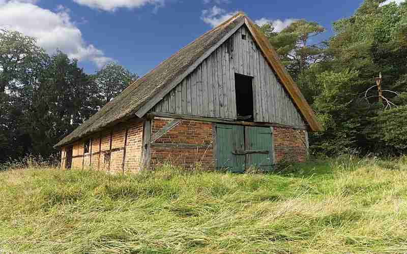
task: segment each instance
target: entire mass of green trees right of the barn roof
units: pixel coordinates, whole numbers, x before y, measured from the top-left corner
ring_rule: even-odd
[[[294,22],[280,33],[261,28],[323,125],[310,135],[314,154],[407,152],[395,145],[405,143],[405,118],[397,117],[407,105],[407,4],[382,2],[365,0],[352,17],[334,22],[335,35],[319,47],[304,40],[324,31],[314,22]],[[374,86],[380,73],[390,107]]]

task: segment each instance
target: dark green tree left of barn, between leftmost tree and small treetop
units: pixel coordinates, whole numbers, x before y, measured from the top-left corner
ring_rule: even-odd
[[[97,89],[77,60],[57,51],[33,92],[25,132],[32,141],[31,153],[49,156],[52,146],[97,111]]]

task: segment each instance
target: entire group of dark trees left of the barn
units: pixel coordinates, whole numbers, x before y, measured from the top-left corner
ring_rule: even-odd
[[[136,78],[115,63],[88,75],[63,52],[49,56],[34,38],[1,30],[0,163],[51,156],[57,141]]]

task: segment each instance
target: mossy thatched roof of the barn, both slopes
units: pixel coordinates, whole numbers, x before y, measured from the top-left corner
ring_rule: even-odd
[[[288,91],[294,91],[294,93],[290,92],[290,95],[292,97],[294,96],[294,102],[303,113],[303,116],[308,121],[311,129],[317,131],[319,129],[319,124],[317,123],[312,110],[305,101],[301,92],[299,92],[298,87],[294,84],[294,81],[292,81],[290,77],[288,79],[285,77],[288,75],[288,73],[286,73],[278,58],[274,59],[275,52],[270,43],[268,43],[267,40],[266,42],[264,40],[265,38],[260,38],[262,36],[261,33],[244,13],[238,13],[234,17],[203,34],[198,39],[164,60],[151,72],[129,85],[121,94],[107,103],[99,112],[86,120],[72,133],[57,143],[55,147],[70,144],[83,137],[99,132],[108,126],[123,121],[124,119],[136,117],[136,112],[139,112],[138,110],[140,110],[140,108],[143,106],[145,108],[147,103],[156,97],[160,91],[164,90],[164,88],[165,90],[168,89],[167,86],[169,84],[173,83],[173,81],[175,81],[181,75],[185,75],[187,70],[190,69],[192,65],[196,64],[197,60],[200,59],[202,55],[208,53],[207,51],[212,49],[221,40],[224,40],[224,37],[230,31],[234,30],[237,28],[237,26],[240,26],[243,23],[246,23],[246,25],[249,26],[249,29],[254,34],[254,38],[256,39],[260,48],[264,51],[269,62],[271,60],[273,61],[270,62],[273,68],[278,67],[278,69],[283,70],[283,73],[281,74],[282,76],[279,75],[279,78],[283,81],[288,80],[288,82],[286,82],[288,87],[283,82],[284,86],[286,86]],[[266,52],[270,50],[274,53]],[[269,56],[267,56],[268,54]],[[271,54],[273,54],[273,59],[270,59]],[[277,72],[277,74],[279,73]],[[300,100],[296,101],[296,96],[297,98],[300,98]],[[154,100],[157,100],[157,98],[154,98]],[[141,117],[139,113],[137,113],[137,115]]]

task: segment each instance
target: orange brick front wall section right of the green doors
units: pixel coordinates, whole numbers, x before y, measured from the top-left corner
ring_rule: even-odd
[[[307,157],[306,131],[290,128],[273,128],[274,153],[276,161],[286,157],[295,162],[304,162]]]

